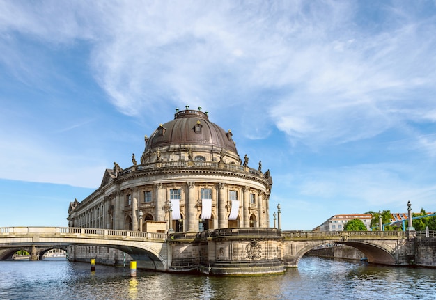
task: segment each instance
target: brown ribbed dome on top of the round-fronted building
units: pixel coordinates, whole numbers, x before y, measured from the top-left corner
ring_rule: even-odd
[[[141,157],[141,163],[153,161],[151,156],[157,151],[159,151],[159,156],[162,154],[162,157],[165,152],[167,155],[169,152],[180,153],[176,155],[176,159],[167,157],[166,160],[188,160],[187,157],[194,152],[194,155],[201,155],[205,160],[214,161],[226,156],[230,159],[227,159],[228,163],[240,162],[232,132],[230,130],[225,132],[224,129],[210,122],[208,114],[200,110],[177,111],[173,120],[159,125],[150,138],[146,136],[146,148]],[[211,153],[212,157],[210,157]],[[213,153],[220,155],[214,156]],[[194,159],[190,157],[189,160],[191,158]]]

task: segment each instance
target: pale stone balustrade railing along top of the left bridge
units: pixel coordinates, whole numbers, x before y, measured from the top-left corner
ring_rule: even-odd
[[[141,232],[130,230],[81,228],[81,227],[0,227],[0,235],[31,235],[31,234],[54,234],[54,235],[109,235],[116,237],[141,237],[143,239],[166,239],[166,233]]]

